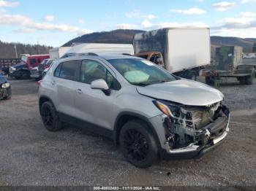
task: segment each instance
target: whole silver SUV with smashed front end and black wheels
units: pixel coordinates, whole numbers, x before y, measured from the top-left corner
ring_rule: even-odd
[[[229,131],[223,95],[129,55],[63,58],[39,83],[39,109],[50,131],[80,125],[119,144],[133,165],[198,157]]]

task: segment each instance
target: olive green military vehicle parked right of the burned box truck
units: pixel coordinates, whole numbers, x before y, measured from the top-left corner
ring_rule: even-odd
[[[243,64],[243,47],[217,47],[211,65],[203,70],[206,84],[219,86],[222,78],[235,77],[241,85],[252,85],[256,64]]]

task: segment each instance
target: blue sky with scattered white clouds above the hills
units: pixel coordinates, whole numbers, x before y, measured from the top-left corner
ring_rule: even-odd
[[[0,40],[61,46],[117,28],[210,27],[256,38],[256,0],[0,0]]]

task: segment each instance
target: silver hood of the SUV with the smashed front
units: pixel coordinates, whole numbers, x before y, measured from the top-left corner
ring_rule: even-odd
[[[222,101],[223,94],[208,85],[187,79],[137,87],[138,93],[187,106],[207,106]]]

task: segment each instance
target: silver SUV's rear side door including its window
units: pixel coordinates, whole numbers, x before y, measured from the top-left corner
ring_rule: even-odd
[[[54,71],[52,85],[56,86],[59,98],[56,109],[58,112],[75,117],[75,83],[79,79],[80,61],[66,61],[60,63]]]

